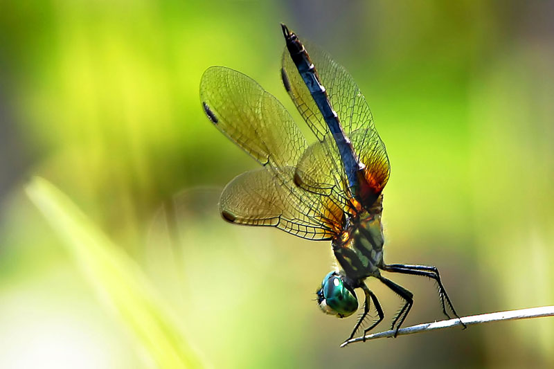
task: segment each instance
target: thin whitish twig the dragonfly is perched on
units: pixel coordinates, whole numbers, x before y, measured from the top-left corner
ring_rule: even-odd
[[[464,316],[461,319],[454,318],[447,321],[438,321],[434,323],[423,323],[418,325],[412,325],[411,327],[405,327],[398,330],[397,336],[402,336],[402,334],[414,334],[421,332],[429,332],[431,330],[442,330],[444,328],[452,328],[458,325],[462,325],[461,321],[465,325],[474,325],[481,323],[490,323],[495,321],[514,321],[517,319],[529,319],[529,318],[540,318],[541,316],[554,316],[554,306],[543,306],[543,307],[531,307],[529,309],[520,309],[520,310],[510,310],[508,312],[497,312],[490,314],[481,314],[473,316]],[[394,330],[388,330],[385,332],[379,332],[374,334],[368,334],[366,336],[366,341],[369,339],[382,339],[384,337],[394,336]],[[350,343],[364,341],[364,337],[358,337],[356,339],[349,339],[345,341],[341,348],[345,347]]]

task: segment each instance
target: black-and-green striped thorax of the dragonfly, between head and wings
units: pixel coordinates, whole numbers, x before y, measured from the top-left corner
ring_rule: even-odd
[[[370,211],[350,217],[343,231],[332,242],[341,271],[350,280],[379,276],[384,244],[381,200],[382,197],[379,197]]]

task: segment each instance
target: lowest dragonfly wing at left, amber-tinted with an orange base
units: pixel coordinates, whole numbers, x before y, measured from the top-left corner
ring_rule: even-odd
[[[289,168],[292,174],[294,168]],[[220,213],[229,222],[251,226],[275,226],[298,237],[330,240],[340,231],[342,211],[322,211],[321,197],[283,181],[265,168],[235,177],[223,190]],[[292,175],[290,176],[292,182]],[[295,188],[291,195],[289,188]],[[305,201],[312,197],[312,201]],[[318,204],[312,208],[310,204]]]

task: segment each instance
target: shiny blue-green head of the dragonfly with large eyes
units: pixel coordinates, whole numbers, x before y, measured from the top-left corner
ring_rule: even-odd
[[[352,286],[336,271],[323,278],[317,291],[317,304],[325,314],[346,318],[358,309],[358,299]]]

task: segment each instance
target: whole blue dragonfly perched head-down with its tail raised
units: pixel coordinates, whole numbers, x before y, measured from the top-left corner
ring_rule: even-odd
[[[223,66],[208,68],[200,82],[204,113],[261,165],[227,184],[220,198],[222,217],[331,241],[336,263],[316,291],[316,301],[326,314],[346,318],[359,308],[355,289],[363,291],[364,307],[348,339],[370,316],[372,304],[377,318],[364,329],[364,339],[384,319],[367,278],[377,278],[403,300],[392,320],[394,336],[410,312],[412,292],[382,271],[435,280],[443,313],[460,318],[436,267],[384,262],[382,192],[391,168],[364,95],[325,51],[301,42],[284,24],[281,28],[286,46],[280,78],[316,139],[308,144],[281,102],[247,75]]]

